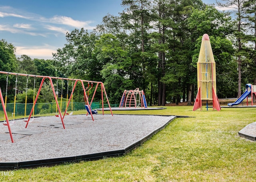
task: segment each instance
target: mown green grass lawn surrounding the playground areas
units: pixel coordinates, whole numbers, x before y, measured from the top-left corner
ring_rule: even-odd
[[[175,119],[125,156],[15,170],[14,176],[0,176],[0,180],[253,182],[256,181],[256,143],[239,137],[238,131],[255,121],[255,110],[256,108],[222,108],[220,112],[192,112],[190,106],[178,106],[153,111],[113,111],[114,114],[193,117]]]

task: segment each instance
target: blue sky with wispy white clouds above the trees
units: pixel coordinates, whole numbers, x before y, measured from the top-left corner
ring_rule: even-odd
[[[206,3],[215,1],[203,0]],[[122,0],[5,0],[0,2],[0,39],[16,47],[16,57],[52,59],[66,32],[92,30],[108,13],[122,12]]]

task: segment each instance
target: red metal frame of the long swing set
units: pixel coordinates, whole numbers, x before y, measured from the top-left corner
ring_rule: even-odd
[[[18,76],[31,76],[31,77],[34,77],[34,78],[42,78],[42,81],[41,81],[41,84],[40,84],[40,86],[39,86],[38,92],[37,92],[37,94],[36,94],[36,99],[34,100],[34,104],[33,104],[33,107],[32,107],[32,109],[31,109],[30,115],[29,115],[29,117],[28,117],[28,120],[25,121],[25,122],[26,122],[25,128],[28,127],[28,123],[29,123],[29,121],[30,121],[31,115],[32,115],[32,113],[33,113],[33,111],[34,111],[34,108],[35,108],[35,105],[36,105],[36,101],[37,101],[38,96],[39,96],[39,94],[40,94],[40,90],[41,90],[41,88],[42,88],[42,86],[43,86],[43,83],[44,83],[44,80],[45,80],[46,78],[48,78],[48,79],[50,80],[50,84],[51,84],[51,87],[52,87],[52,92],[53,92],[53,95],[54,95],[54,99],[55,99],[55,101],[56,101],[56,105],[57,105],[57,108],[58,108],[58,112],[59,112],[59,114],[60,114],[60,119],[61,119],[61,122],[62,122],[63,129],[65,129],[65,125],[64,125],[63,119],[64,119],[65,114],[67,113],[67,109],[68,109],[68,106],[69,106],[69,104],[70,104],[70,100],[71,100],[71,98],[72,98],[72,96],[73,96],[74,90],[75,90],[75,88],[76,88],[77,82],[80,82],[80,83],[82,84],[82,88],[83,88],[83,90],[84,90],[84,102],[85,102],[87,105],[90,105],[90,106],[91,106],[92,101],[93,101],[93,99],[94,99],[94,96],[95,96],[95,94],[96,94],[98,85],[100,84],[100,85],[101,85],[101,99],[102,99],[102,114],[104,115],[104,102],[103,102],[103,99],[104,99],[104,95],[105,95],[106,100],[107,100],[107,102],[108,102],[108,106],[109,106],[109,108],[110,108],[110,112],[111,112],[111,114],[112,114],[112,116],[113,116],[113,113],[112,113],[112,110],[111,110],[111,107],[110,107],[110,103],[109,103],[109,101],[108,101],[108,96],[107,96],[107,93],[106,93],[104,84],[103,84],[102,82],[88,81],[88,80],[81,80],[81,79],[60,78],[60,77],[53,77],[53,76],[40,76],[40,75],[32,75],[32,74],[22,74],[22,73],[14,73],[14,72],[4,72],[4,71],[0,71],[0,74],[12,74],[12,75],[18,75]],[[53,85],[52,79],[73,80],[73,81],[75,81],[74,86],[73,86],[73,88],[72,88],[72,92],[71,92],[71,94],[70,94],[70,98],[69,98],[69,100],[68,100],[68,104],[67,104],[67,106],[66,106],[66,109],[65,109],[65,111],[64,111],[63,116],[62,116],[61,111],[60,111],[60,106],[59,106],[59,104],[58,104],[58,99],[57,99],[57,97],[56,97],[56,93],[55,93],[55,89],[54,89],[54,85]],[[94,90],[94,94],[93,94],[93,96],[92,96],[92,100],[91,100],[90,103],[89,103],[89,100],[88,100],[88,96],[87,96],[87,94],[86,94],[86,90],[88,89],[88,87],[87,87],[87,88],[84,87],[84,82],[88,82],[88,85],[89,85],[89,83],[91,83],[91,84],[96,83],[96,87],[95,87],[95,90]],[[90,88],[90,89],[92,89],[92,88]],[[10,138],[11,138],[12,143],[14,143],[14,140],[13,140],[13,137],[12,137],[12,132],[11,132],[11,127],[10,127],[10,123],[9,123],[9,119],[8,119],[8,115],[7,115],[7,112],[6,112],[6,108],[5,108],[5,106],[4,106],[4,98],[3,98],[3,95],[2,95],[2,90],[1,90],[1,88],[0,88],[0,99],[1,99],[1,102],[2,102],[2,107],[3,107],[4,115],[5,115],[5,118],[6,118],[6,123],[7,123],[7,126],[8,126],[9,133],[10,133]],[[90,107],[89,107],[89,110],[90,110]],[[94,121],[94,118],[93,118],[93,115],[92,115],[91,110],[90,110],[90,113],[91,113],[92,121]]]

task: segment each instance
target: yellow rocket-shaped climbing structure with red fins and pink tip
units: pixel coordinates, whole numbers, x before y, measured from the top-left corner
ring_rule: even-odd
[[[208,101],[212,101],[213,110],[220,111],[220,103],[216,94],[216,67],[212,53],[210,38],[207,34],[202,37],[202,44],[197,62],[197,88],[198,92],[194,103],[193,111],[200,108],[202,110],[202,101],[206,101],[208,110]]]

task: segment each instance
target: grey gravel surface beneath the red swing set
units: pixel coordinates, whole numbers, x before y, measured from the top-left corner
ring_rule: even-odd
[[[174,116],[158,115],[65,115],[63,129],[60,117],[35,117],[26,123],[18,119],[12,133],[26,131],[32,135],[13,134],[0,123],[0,162],[51,159],[124,149],[164,126]],[[10,121],[11,122],[11,121]],[[21,138],[18,138],[21,137]]]

